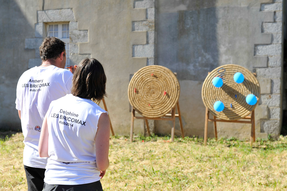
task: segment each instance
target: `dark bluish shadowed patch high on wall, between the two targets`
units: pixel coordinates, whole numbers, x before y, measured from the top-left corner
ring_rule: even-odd
[[[197,1],[158,5],[156,64],[177,72],[179,80],[204,81],[218,66],[216,1]]]

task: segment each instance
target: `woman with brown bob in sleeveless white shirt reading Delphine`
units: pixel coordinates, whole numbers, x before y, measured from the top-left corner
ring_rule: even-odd
[[[72,80],[71,94],[52,101],[43,121],[40,157],[49,157],[44,191],[102,190],[108,168],[110,122],[91,99],[106,96],[106,76],[96,59],[83,59]]]

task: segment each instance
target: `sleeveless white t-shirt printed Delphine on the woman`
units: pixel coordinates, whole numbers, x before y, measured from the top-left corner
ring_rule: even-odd
[[[100,180],[95,137],[106,113],[90,99],[68,94],[52,101],[47,111],[48,154],[44,182],[76,185]]]

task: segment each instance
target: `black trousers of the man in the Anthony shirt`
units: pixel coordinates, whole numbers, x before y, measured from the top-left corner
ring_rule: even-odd
[[[25,165],[24,169],[27,178],[28,191],[42,191],[46,169],[28,167]]]

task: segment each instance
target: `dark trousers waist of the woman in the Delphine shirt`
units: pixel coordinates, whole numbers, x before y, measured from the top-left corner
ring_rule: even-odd
[[[50,185],[44,183],[43,191],[103,191],[100,181],[77,185]]]

